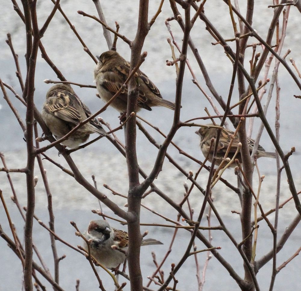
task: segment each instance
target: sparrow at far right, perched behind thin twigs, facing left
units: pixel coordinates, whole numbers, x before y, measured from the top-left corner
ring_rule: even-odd
[[[213,124],[207,124],[207,125],[210,126]],[[208,155],[208,151],[209,151],[210,145],[211,145],[211,139],[216,138],[217,130],[218,130],[218,128],[201,127],[198,131],[195,132],[201,138],[200,148],[201,148],[201,151],[202,151],[204,157],[207,157],[207,155]],[[231,141],[231,138],[230,138],[231,134],[234,134],[234,132],[231,130],[225,129],[225,128],[222,129],[222,132],[221,132],[221,135],[219,138],[219,145],[217,148],[216,165],[220,165],[220,163],[222,162],[222,160],[225,156],[226,150]],[[228,157],[230,159],[233,157],[234,153],[236,152],[238,143],[239,143],[239,139],[236,136],[232,142],[230,151],[228,153]],[[248,138],[248,143],[249,143],[250,153],[252,153],[253,146],[254,146],[254,140],[251,138]],[[209,153],[209,161],[210,162],[212,162],[214,147],[215,147],[215,141],[213,142],[213,145],[212,145],[210,153]],[[271,152],[266,152],[265,149],[261,145],[258,145],[258,150],[257,150],[256,156],[257,156],[257,158],[260,158],[260,157],[275,158],[276,154],[271,153]],[[238,159],[239,162],[241,163],[240,152],[237,153],[235,158]],[[232,163],[231,166],[235,167],[236,164]]]

